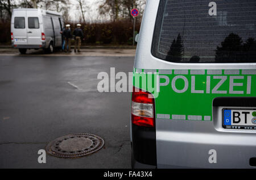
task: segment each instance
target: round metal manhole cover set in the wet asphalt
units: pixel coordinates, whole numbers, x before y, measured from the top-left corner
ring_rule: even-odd
[[[96,135],[80,133],[59,137],[46,146],[47,153],[56,157],[81,157],[92,154],[104,146],[104,140]]]

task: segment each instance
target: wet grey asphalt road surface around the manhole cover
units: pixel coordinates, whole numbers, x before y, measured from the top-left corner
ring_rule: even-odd
[[[0,56],[0,168],[131,168],[130,93],[98,93],[99,72],[131,72],[134,57]],[[75,86],[78,87],[78,89]],[[71,133],[105,140],[75,159],[38,150]]]

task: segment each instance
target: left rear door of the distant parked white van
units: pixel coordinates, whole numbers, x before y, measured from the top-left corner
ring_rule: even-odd
[[[26,11],[15,10],[12,22],[14,45],[27,45]]]

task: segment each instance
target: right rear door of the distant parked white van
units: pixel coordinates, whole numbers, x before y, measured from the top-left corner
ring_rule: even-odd
[[[40,26],[41,19],[38,16],[38,11],[27,11],[27,39],[28,45],[42,44],[42,31]]]

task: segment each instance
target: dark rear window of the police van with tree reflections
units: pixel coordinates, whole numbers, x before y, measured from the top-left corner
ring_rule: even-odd
[[[256,1],[160,0],[151,53],[170,62],[256,62]]]

